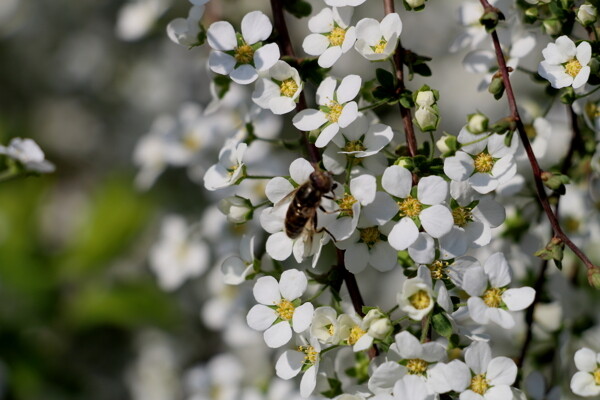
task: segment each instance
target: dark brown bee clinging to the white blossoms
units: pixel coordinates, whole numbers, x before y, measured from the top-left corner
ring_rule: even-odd
[[[317,208],[321,199],[334,189],[334,182],[329,173],[315,169],[308,181],[292,192],[294,198],[285,215],[285,233],[290,239],[302,234],[304,228],[311,224],[317,227]]]

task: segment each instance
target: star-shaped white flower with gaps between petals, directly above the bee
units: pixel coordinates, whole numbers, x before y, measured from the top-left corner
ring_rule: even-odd
[[[301,131],[312,131],[325,125],[319,134],[315,146],[325,147],[340,128],[350,125],[358,117],[358,104],[352,101],[360,91],[361,78],[348,75],[339,86],[337,81],[327,77],[317,89],[318,110],[302,110],[294,116],[292,122]],[[336,90],[337,86],[337,90]]]

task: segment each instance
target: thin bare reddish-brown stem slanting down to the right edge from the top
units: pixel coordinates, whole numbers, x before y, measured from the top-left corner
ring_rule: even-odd
[[[386,0],[387,1],[387,0]],[[492,7],[487,0],[480,0],[481,5],[485,9],[485,12],[497,12],[497,10]],[[525,148],[525,153],[527,154],[527,158],[529,159],[529,164],[531,165],[531,169],[533,172],[533,180],[535,182],[535,187],[537,191],[537,196],[540,201],[548,220],[550,221],[550,225],[552,226],[552,230],[554,231],[554,236],[563,241],[573,253],[585,264],[588,269],[588,280],[591,282],[592,274],[598,271],[598,267],[596,267],[590,259],[583,253],[583,251],[577,247],[575,243],[569,239],[569,237],[563,232],[560,227],[560,223],[556,214],[552,211],[552,207],[550,206],[550,202],[548,200],[548,195],[546,194],[546,189],[544,188],[544,183],[542,182],[542,169],[533,154],[533,149],[531,148],[531,143],[529,143],[529,138],[527,137],[527,133],[525,132],[525,126],[523,125],[523,121],[521,120],[521,116],[519,115],[519,110],[517,109],[517,102],[515,100],[515,95],[513,92],[512,85],[510,83],[510,78],[508,76],[508,68],[506,66],[506,61],[504,60],[504,53],[502,52],[502,47],[500,46],[500,40],[498,39],[498,33],[494,30],[491,33],[492,41],[494,42],[494,49],[496,51],[496,60],[498,61],[498,67],[500,68],[500,73],[502,75],[502,81],[504,83],[504,88],[506,89],[506,97],[508,99],[508,106],[510,108],[510,112],[512,115],[512,119],[515,122],[517,127],[517,131],[519,133],[519,137],[521,138],[521,142],[523,143],[523,147]]]

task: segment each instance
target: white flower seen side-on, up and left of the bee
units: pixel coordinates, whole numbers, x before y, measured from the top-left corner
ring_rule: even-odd
[[[208,190],[235,185],[244,176],[244,153],[248,145],[233,140],[219,152],[219,162],[204,174],[204,187]]]

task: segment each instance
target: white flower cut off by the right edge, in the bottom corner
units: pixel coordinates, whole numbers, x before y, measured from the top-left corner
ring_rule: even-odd
[[[600,353],[584,347],[575,353],[575,366],[579,371],[571,378],[571,390],[579,396],[600,395]]]

